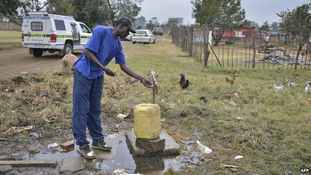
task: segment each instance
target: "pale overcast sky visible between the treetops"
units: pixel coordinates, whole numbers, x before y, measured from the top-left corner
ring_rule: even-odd
[[[183,23],[194,23],[191,17],[192,4],[191,0],[144,0],[142,10],[139,16],[143,15],[146,20],[156,16],[157,21],[161,24],[168,17],[183,17]],[[259,25],[263,22],[279,21],[277,12],[293,9],[298,5],[310,3],[311,0],[241,0],[242,8],[246,11],[246,18],[255,21]]]

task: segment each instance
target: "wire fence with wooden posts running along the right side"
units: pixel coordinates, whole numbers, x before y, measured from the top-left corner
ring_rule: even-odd
[[[221,35],[219,43],[214,39]],[[237,31],[210,30],[207,26],[173,25],[172,42],[187,51],[204,66],[264,69],[309,69],[311,42],[303,45],[297,60],[299,44],[294,36],[280,32],[265,32],[254,27]]]

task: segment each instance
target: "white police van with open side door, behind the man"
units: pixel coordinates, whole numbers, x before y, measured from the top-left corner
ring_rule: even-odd
[[[23,16],[21,32],[22,46],[39,57],[46,51],[66,55],[83,49],[93,31],[72,16],[29,12]]]

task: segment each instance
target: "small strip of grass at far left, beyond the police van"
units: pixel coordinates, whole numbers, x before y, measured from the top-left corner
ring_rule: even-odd
[[[0,30],[0,50],[22,48],[21,32]]]

